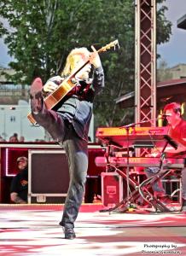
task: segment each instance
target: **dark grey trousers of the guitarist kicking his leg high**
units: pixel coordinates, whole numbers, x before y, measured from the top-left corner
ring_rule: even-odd
[[[43,107],[42,111],[37,114],[32,113],[32,115],[38,125],[43,126],[51,137],[65,148],[70,183],[60,224],[67,228],[73,228],[84,196],[88,169],[88,143],[78,137],[73,125],[53,110]],[[62,172],[62,166],[59,168]]]

